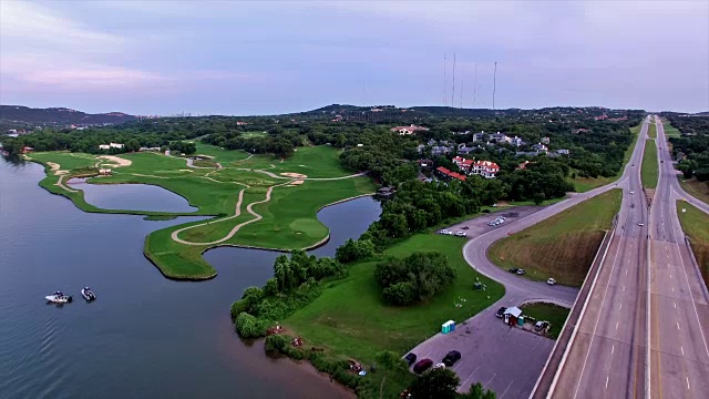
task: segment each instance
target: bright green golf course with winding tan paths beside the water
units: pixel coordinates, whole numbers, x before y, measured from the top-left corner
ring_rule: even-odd
[[[96,177],[91,183],[116,184],[137,183],[153,184],[167,188],[185,197],[198,211],[191,215],[217,215],[216,219],[194,222],[168,227],[152,233],[145,241],[145,255],[171,278],[199,279],[210,278],[216,270],[208,265],[201,254],[216,245],[242,245],[264,247],[270,249],[294,249],[312,246],[327,238],[328,229],[316,216],[322,206],[349,197],[373,193],[374,184],[368,177],[352,177],[335,181],[305,181],[300,185],[289,185],[294,178],[276,178],[251,170],[263,168],[279,175],[285,172],[307,174],[309,177],[341,177],[350,173],[343,171],[338,163],[338,152],[331,147],[301,147],[292,157],[281,161],[270,155],[250,156],[240,151],[226,151],[218,147],[197,143],[197,153],[209,155],[214,162],[219,162],[224,168],[189,168],[181,157],[168,157],[154,153],[122,154],[121,157],[131,161],[130,166],[113,168],[112,176]],[[79,155],[79,156],[78,156]],[[66,160],[72,156],[71,160]],[[73,161],[78,157],[81,161]],[[62,170],[71,167],[70,173],[93,166],[96,162],[93,155],[47,153],[43,162],[56,162]],[[68,162],[68,161],[73,161]],[[336,165],[336,166],[333,166]],[[95,170],[94,170],[95,173]],[[51,178],[50,178],[51,177]],[[54,185],[59,176],[49,176],[49,182],[42,186],[62,194],[74,201],[82,209],[106,213],[132,213],[153,216],[175,215],[161,212],[125,212],[99,209],[83,201],[82,192],[70,192]],[[65,177],[64,177],[65,178]],[[274,187],[270,201],[266,201],[266,193]],[[236,204],[239,193],[244,192],[239,215],[236,215]],[[247,211],[253,211],[263,219]],[[181,214],[184,215],[184,214]],[[253,221],[244,226],[229,239],[225,238],[237,225]],[[201,225],[183,232],[179,238],[197,243],[185,245],[172,239],[172,233],[191,225]]]

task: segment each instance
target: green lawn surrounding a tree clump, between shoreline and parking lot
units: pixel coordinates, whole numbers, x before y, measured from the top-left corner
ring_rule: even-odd
[[[401,258],[421,250],[438,250],[448,256],[458,270],[458,282],[429,303],[410,307],[384,305],[373,275],[377,262],[363,262],[350,266],[347,278],[329,283],[316,300],[289,316],[284,325],[308,345],[325,347],[331,356],[351,357],[364,365],[374,362],[382,350],[403,355],[435,335],[442,323],[449,319],[461,323],[503,296],[502,285],[465,263],[462,254],[465,243],[456,237],[419,234],[386,250],[384,255]],[[486,293],[473,289],[477,278],[487,285]],[[377,372],[367,378],[376,379],[379,386],[382,377],[383,372]],[[408,372],[388,376],[383,397],[398,397],[412,378]]]

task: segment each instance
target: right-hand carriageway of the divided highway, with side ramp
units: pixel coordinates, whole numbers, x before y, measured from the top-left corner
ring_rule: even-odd
[[[685,198],[709,213],[707,204],[679,186],[658,120],[660,180],[650,215],[650,395],[653,398],[709,396],[709,296],[677,217]],[[709,227],[708,227],[709,228]]]

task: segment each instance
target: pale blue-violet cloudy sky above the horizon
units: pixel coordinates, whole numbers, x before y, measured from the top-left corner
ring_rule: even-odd
[[[709,0],[0,0],[2,104],[492,108],[495,62],[496,109],[709,111]]]

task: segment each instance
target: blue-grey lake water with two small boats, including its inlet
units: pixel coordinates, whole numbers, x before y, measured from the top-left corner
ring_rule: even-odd
[[[278,253],[216,248],[205,254],[215,279],[168,280],[144,258],[143,241],[188,218],[83,213],[39,187],[42,177],[40,165],[0,160],[0,398],[348,396],[234,332],[229,305],[271,277]],[[332,239],[312,253],[333,254],[379,211],[369,197],[325,208],[318,217]],[[96,301],[83,301],[84,285]],[[47,305],[56,289],[74,303]]]

